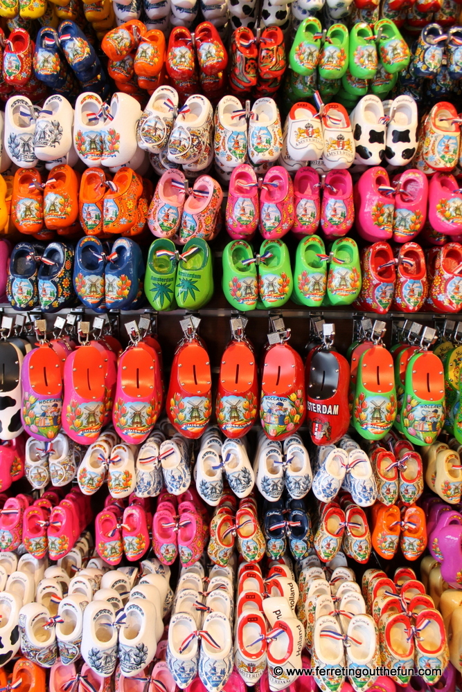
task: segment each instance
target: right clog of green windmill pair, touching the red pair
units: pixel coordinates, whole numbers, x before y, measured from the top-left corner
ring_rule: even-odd
[[[357,244],[351,238],[337,238],[330,253],[326,295],[331,305],[350,305],[361,291]]]

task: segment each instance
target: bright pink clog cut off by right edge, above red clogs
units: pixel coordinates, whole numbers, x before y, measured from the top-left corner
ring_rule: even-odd
[[[450,173],[435,173],[430,180],[428,220],[438,233],[462,233],[462,192]]]

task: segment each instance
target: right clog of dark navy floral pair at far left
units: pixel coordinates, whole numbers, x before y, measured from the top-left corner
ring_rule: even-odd
[[[74,251],[64,243],[50,243],[42,255],[38,273],[40,307],[55,312],[74,298],[72,265]]]

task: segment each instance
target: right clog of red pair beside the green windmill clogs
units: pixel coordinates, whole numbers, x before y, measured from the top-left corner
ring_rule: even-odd
[[[417,243],[405,243],[398,251],[398,266],[393,308],[416,312],[427,298],[428,282],[425,255]]]

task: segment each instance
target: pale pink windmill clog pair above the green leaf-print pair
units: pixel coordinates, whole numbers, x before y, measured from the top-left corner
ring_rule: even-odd
[[[153,235],[182,245],[200,238],[212,240],[220,230],[222,188],[208,175],[198,176],[189,197],[188,183],[180,170],[166,171],[154,191],[148,210]]]

